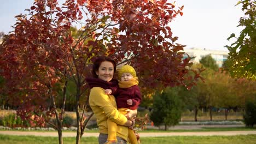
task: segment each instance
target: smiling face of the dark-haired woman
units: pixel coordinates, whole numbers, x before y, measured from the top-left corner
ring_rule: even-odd
[[[98,79],[109,82],[114,76],[114,65],[111,62],[104,61],[96,71],[96,74]]]

